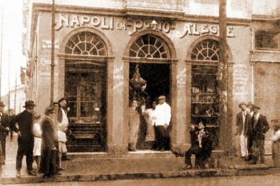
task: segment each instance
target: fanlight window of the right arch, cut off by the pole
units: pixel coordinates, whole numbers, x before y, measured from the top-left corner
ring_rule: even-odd
[[[203,61],[219,61],[219,43],[212,39],[197,43],[192,50],[191,58]]]

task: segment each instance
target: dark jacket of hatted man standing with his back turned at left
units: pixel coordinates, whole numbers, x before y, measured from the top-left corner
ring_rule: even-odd
[[[19,128],[14,127],[14,132],[21,132],[20,138],[21,141],[23,141],[23,144],[33,141],[33,115],[30,112],[24,110],[20,114],[17,114],[12,123],[12,125],[14,125],[14,123],[18,123]]]

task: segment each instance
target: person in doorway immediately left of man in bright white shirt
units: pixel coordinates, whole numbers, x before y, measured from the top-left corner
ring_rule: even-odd
[[[155,125],[155,109],[157,106],[156,101],[152,101],[152,107],[145,110],[144,116],[147,123],[147,134],[146,134],[146,141],[151,142],[151,149],[154,147],[154,138],[155,138],[155,132],[154,132],[154,125]]]

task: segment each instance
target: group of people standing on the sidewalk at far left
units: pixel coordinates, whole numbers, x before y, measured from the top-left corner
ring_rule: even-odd
[[[0,163],[5,163],[6,136],[12,130],[18,134],[17,177],[21,177],[23,156],[26,156],[27,172],[30,176],[36,176],[37,172],[42,173],[43,178],[61,174],[61,161],[70,160],[66,156],[66,132],[69,125],[66,105],[67,100],[60,99],[47,107],[45,116],[41,118],[34,112],[34,101],[26,101],[23,106],[25,110],[9,118],[7,114],[3,114],[5,105],[0,102]],[[37,163],[37,172],[32,167],[34,161]]]

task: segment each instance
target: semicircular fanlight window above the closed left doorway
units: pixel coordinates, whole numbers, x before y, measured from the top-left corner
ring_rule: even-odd
[[[107,50],[104,41],[92,32],[74,34],[66,44],[66,54],[87,56],[106,56]]]

